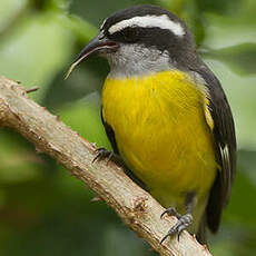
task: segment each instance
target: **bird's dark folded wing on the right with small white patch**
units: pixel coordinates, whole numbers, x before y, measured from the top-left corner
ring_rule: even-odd
[[[209,229],[215,233],[218,229],[223,209],[228,203],[236,170],[235,126],[230,107],[218,79],[204,63],[194,71],[204,78],[208,89],[208,109],[214,120],[216,157],[220,166],[206,208],[206,221]]]

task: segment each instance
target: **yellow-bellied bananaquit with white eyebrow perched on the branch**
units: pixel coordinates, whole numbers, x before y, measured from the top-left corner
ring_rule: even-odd
[[[184,229],[206,242],[216,233],[236,168],[232,111],[215,75],[196,51],[186,23],[156,6],[136,6],[107,18],[71,70],[98,53],[110,72],[101,118],[114,154],[175,215],[163,238]]]

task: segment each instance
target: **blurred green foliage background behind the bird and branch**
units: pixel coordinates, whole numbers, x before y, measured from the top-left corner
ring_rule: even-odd
[[[255,0],[1,0],[0,73],[39,86],[31,97],[81,136],[110,147],[99,118],[106,61],[92,58],[63,81],[75,56],[112,11],[138,3],[173,10],[193,29],[235,117],[238,168],[210,249],[256,254]],[[102,174],[104,175],[104,174]],[[0,130],[0,255],[155,255],[93,193],[13,130]]]

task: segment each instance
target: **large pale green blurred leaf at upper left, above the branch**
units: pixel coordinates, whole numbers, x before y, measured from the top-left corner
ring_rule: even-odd
[[[58,16],[31,14],[0,43],[1,75],[22,81],[27,88],[39,86],[32,95],[39,101],[72,52],[73,37],[58,22]]]

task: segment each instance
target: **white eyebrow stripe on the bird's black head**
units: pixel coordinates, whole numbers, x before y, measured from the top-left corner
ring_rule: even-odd
[[[128,27],[160,28],[168,29],[178,37],[183,37],[185,35],[185,30],[181,24],[170,20],[167,14],[142,17],[138,16],[131,19],[122,20],[111,26],[108,29],[108,32],[112,35]]]

